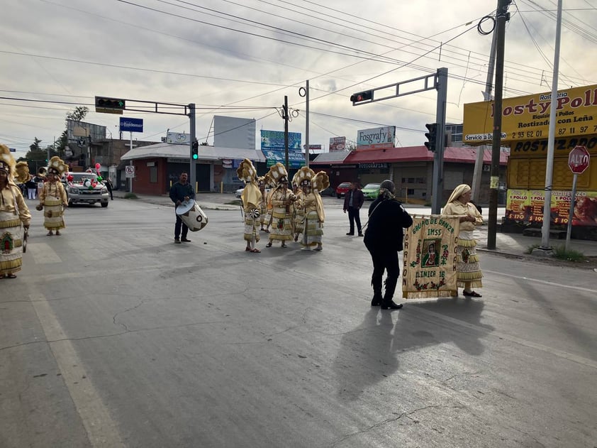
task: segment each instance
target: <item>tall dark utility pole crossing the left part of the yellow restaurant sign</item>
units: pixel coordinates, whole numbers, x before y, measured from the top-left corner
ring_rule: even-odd
[[[498,226],[498,186],[500,181],[500,151],[502,126],[503,59],[506,22],[510,20],[508,6],[512,0],[498,0],[496,11],[496,98],[493,101],[493,141],[491,144],[491,178],[489,180],[489,225],[487,248],[495,250]]]

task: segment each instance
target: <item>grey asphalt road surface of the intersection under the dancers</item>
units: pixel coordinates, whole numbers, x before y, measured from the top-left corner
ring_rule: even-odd
[[[240,211],[174,244],[170,207],[33,210],[0,280],[0,447],[596,447],[597,288],[483,253],[484,297],[369,306],[371,261],[247,253]]]

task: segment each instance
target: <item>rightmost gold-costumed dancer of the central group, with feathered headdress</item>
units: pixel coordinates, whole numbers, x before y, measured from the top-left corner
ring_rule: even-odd
[[[330,186],[330,180],[324,171],[315,174],[311,168],[306,167],[299,170],[299,178],[303,188],[303,209],[305,210],[301,246],[303,249],[311,249],[315,246],[314,251],[321,251],[325,212],[319,192]]]

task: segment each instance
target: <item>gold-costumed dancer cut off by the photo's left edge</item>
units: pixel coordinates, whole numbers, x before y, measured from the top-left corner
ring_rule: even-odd
[[[31,221],[21,189],[13,180],[16,174],[11,151],[0,143],[0,278],[16,278],[15,273],[21,271]]]

